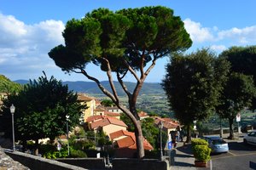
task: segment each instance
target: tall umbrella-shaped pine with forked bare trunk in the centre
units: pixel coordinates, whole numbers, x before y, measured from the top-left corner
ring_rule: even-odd
[[[143,158],[143,133],[136,110],[137,96],[146,77],[157,59],[171,52],[183,51],[192,44],[180,17],[166,7],[128,8],[110,11],[98,8],[85,14],[83,19],[69,20],[63,31],[65,45],[49,52],[55,65],[62,71],[83,74],[97,83],[98,87],[119,107],[135,125],[137,155]],[[86,68],[98,65],[106,72],[111,90],[102,86],[97,77],[92,77]],[[119,100],[113,84],[113,73],[129,102],[125,108]],[[128,90],[125,76],[131,74],[137,85]]]

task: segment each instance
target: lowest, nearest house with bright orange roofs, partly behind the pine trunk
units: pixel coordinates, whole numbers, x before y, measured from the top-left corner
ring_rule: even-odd
[[[116,157],[135,157],[137,153],[135,133],[119,130],[109,134],[113,141],[113,148]],[[144,150],[153,150],[147,139],[143,139]]]

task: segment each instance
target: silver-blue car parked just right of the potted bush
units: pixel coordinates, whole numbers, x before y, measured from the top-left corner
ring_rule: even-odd
[[[202,139],[207,140],[212,153],[224,153],[229,151],[229,144],[219,136],[204,136]]]

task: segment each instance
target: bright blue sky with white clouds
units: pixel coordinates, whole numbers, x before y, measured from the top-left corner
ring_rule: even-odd
[[[231,46],[256,45],[255,0],[0,0],[0,74],[11,80],[38,79],[45,71],[62,81],[88,81],[70,76],[49,59],[51,48],[63,43],[61,32],[67,20],[80,19],[96,8],[138,8],[166,6],[181,17],[193,40],[188,52],[212,48],[216,54]],[[160,82],[168,59],[161,59],[146,82]],[[107,80],[95,67],[89,73]],[[126,81],[134,80],[128,76]]]

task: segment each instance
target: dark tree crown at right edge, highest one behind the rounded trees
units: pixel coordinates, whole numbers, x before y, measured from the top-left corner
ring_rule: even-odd
[[[256,46],[231,47],[220,54],[220,57],[230,61],[231,71],[253,76],[254,86],[256,86]],[[256,97],[253,97],[250,108],[253,111],[256,109]]]

